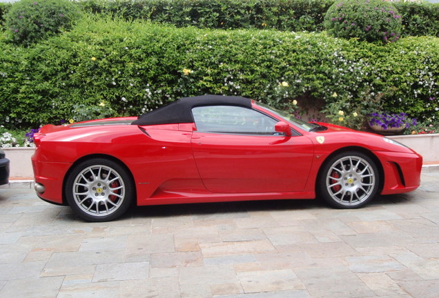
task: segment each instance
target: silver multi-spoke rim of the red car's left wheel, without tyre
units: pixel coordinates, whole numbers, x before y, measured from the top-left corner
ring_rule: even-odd
[[[126,186],[113,168],[94,165],[84,168],[75,177],[72,195],[86,214],[101,217],[119,209],[126,196]]]

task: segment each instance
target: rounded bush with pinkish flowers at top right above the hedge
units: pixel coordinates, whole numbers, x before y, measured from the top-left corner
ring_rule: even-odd
[[[397,41],[401,34],[401,15],[382,0],[336,1],[326,12],[324,26],[329,34],[362,41]]]

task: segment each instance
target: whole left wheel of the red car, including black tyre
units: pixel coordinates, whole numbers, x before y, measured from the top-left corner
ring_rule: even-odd
[[[128,171],[109,159],[78,163],[66,180],[68,205],[86,221],[111,221],[123,215],[135,197]]]

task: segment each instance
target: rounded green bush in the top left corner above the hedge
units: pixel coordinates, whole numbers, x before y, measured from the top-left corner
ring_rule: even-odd
[[[29,46],[71,28],[78,17],[78,7],[68,0],[21,0],[6,14],[6,32],[14,43]]]

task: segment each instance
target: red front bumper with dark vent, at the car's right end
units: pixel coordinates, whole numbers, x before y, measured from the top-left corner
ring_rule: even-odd
[[[402,152],[374,153],[382,164],[384,183],[381,195],[410,192],[420,186],[422,156]]]

